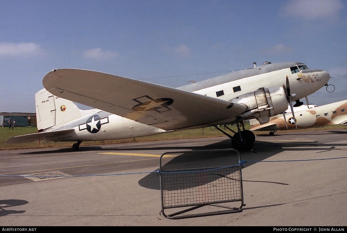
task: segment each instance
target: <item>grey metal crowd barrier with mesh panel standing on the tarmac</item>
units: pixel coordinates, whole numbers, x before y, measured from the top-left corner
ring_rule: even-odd
[[[239,152],[235,149],[175,151],[165,152],[160,156],[161,204],[162,213],[166,218],[191,218],[242,211],[244,202],[240,164],[175,170],[165,170],[162,167],[162,158],[165,155],[206,152],[236,152],[238,161],[241,160]],[[240,206],[227,205],[230,202],[239,202]],[[209,207],[208,212],[199,213],[196,210],[206,206]],[[168,209],[176,212],[166,214],[165,210]]]

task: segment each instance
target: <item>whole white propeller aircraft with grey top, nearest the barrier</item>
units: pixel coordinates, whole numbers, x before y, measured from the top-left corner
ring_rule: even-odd
[[[330,75],[303,63],[274,63],[191,83],[180,88],[82,69],[54,69],[36,93],[39,133],[7,143],[134,138],[221,124],[237,124],[232,147],[249,151],[255,136],[246,119],[268,123],[293,101],[327,85]],[[95,85],[97,84],[97,85]],[[70,101],[68,101],[70,100]],[[96,109],[79,110],[73,102]],[[294,115],[294,114],[293,114]]]

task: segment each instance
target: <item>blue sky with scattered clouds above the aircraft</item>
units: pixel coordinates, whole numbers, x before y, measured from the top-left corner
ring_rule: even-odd
[[[0,112],[35,112],[34,94],[58,68],[178,87],[299,61],[336,88],[310,103],[347,99],[346,1],[0,0],[0,35]]]

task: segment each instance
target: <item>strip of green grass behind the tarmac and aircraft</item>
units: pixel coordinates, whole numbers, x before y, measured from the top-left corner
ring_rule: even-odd
[[[237,131],[236,126],[230,127],[232,130]],[[249,124],[245,125],[246,129],[249,129]],[[302,131],[312,131],[312,130],[333,130],[346,128],[345,125],[332,125],[319,128],[311,128]],[[277,131],[275,134],[281,132],[296,132],[296,130],[287,131]],[[36,127],[17,127],[17,129],[0,129],[0,150],[12,150],[12,149],[29,149],[29,148],[52,148],[52,147],[72,147],[74,142],[32,142],[32,143],[19,143],[19,144],[6,144],[6,141],[12,136],[24,135],[37,133]],[[228,132],[230,133],[230,132]],[[232,133],[230,133],[232,135]],[[264,132],[254,132],[254,134],[269,134],[269,131]],[[109,140],[109,141],[91,141],[83,142],[81,145],[100,145],[100,144],[118,144],[118,143],[128,143],[128,142],[144,142],[144,141],[159,141],[159,140],[172,140],[172,139],[189,139],[189,138],[208,138],[208,137],[218,137],[225,136],[213,127],[198,128],[195,130],[183,130],[178,132],[171,132],[159,135],[145,136],[134,139],[120,139],[120,140]]]

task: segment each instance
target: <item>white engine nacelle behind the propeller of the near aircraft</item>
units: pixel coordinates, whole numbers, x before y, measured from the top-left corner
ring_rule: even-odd
[[[243,103],[247,106],[247,111],[238,115],[238,119],[256,118],[260,124],[268,123],[270,117],[288,109],[288,101],[283,87],[260,88],[230,101]]]

